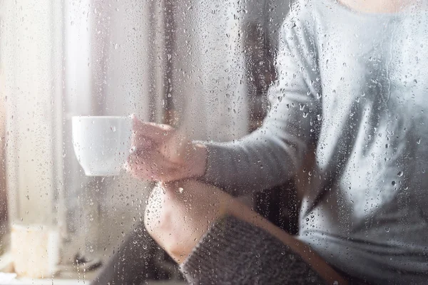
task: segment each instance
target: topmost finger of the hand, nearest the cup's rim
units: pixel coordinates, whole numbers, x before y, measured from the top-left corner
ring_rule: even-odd
[[[135,116],[133,117],[133,132],[136,133],[137,137],[142,136],[150,138],[156,143],[161,143],[173,130],[170,125],[142,122]]]

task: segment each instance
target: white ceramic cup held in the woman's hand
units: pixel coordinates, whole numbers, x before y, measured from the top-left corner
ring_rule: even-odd
[[[72,118],[73,147],[87,176],[119,175],[131,150],[131,117]]]

